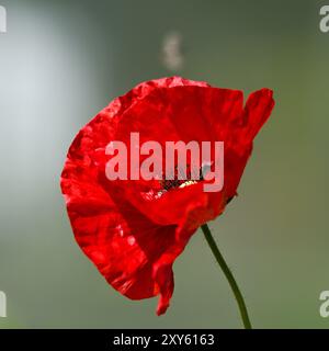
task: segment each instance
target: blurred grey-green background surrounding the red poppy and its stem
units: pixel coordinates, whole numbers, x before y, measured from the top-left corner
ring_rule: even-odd
[[[136,83],[180,75],[276,106],[240,196],[211,223],[257,328],[328,328],[329,33],[315,0],[0,0],[1,328],[240,328],[202,233],[171,307],[116,293],[76,245],[59,174],[76,133]]]

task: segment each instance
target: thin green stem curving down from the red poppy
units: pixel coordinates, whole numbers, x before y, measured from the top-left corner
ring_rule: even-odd
[[[212,233],[209,230],[209,227],[207,226],[207,224],[204,224],[203,226],[201,226],[202,231],[216,258],[216,261],[218,262],[219,267],[222,268],[222,271],[224,272],[226,279],[228,280],[228,283],[235,294],[236,301],[238,303],[239,306],[239,310],[241,314],[241,318],[242,318],[242,322],[246,329],[251,329],[251,324],[249,320],[249,316],[248,316],[248,312],[247,312],[247,307],[242,297],[242,294],[239,290],[239,286],[231,273],[231,271],[229,270],[228,265],[226,264],[224,257],[222,256],[216,241],[214,240]]]

